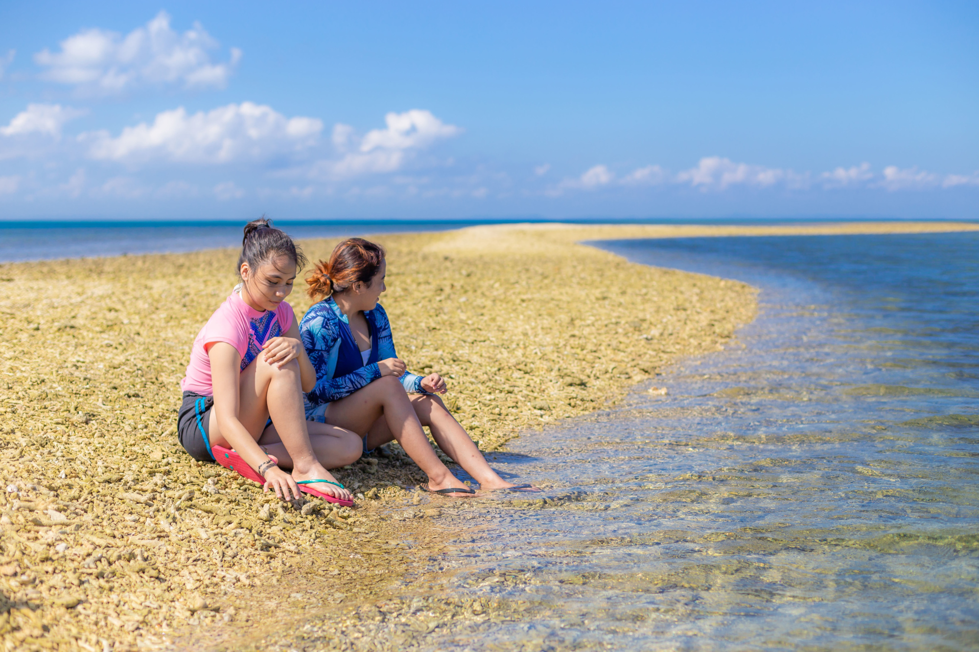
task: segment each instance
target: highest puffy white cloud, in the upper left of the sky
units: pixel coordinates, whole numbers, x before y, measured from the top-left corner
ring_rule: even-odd
[[[229,61],[211,61],[210,51],[218,43],[207,30],[194,23],[179,34],[170,27],[166,12],[125,36],[83,29],[60,45],[59,52],[44,49],[34,55],[35,63],[46,69],[41,78],[102,93],[144,84],[222,88],[242,56],[241,50],[232,48]]]

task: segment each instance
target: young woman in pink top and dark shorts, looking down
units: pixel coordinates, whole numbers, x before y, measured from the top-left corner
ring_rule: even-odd
[[[303,490],[350,504],[350,491],[326,469],[355,461],[360,438],[305,420],[303,391],[313,388],[316,373],[285,301],[304,263],[269,220],[246,225],[241,284],[194,340],[177,434],[195,459],[217,461],[284,500]]]

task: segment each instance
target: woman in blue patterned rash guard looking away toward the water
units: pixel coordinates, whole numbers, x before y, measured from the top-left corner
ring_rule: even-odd
[[[363,438],[364,452],[397,440],[428,475],[422,489],[435,493],[475,491],[445,467],[422,426],[480,489],[539,490],[496,475],[438,396],[446,391],[443,378],[412,374],[397,358],[388,314],[377,303],[387,289],[386,268],[380,246],[350,238],[306,278],[309,296],[323,298],[300,322],[303,347],[316,370],[316,386],[306,394],[306,419],[353,431]]]

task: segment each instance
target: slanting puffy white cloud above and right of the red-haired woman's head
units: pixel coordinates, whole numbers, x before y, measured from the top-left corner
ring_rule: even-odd
[[[371,129],[362,138],[349,124],[334,125],[333,144],[343,157],[317,162],[310,175],[340,178],[395,172],[415,153],[462,133],[461,127],[445,124],[432,112],[421,109],[390,113],[385,116],[385,123],[385,128]]]

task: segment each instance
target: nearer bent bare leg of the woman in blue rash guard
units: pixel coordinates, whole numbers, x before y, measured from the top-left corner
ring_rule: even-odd
[[[407,393],[394,376],[379,378],[350,396],[333,401],[325,416],[327,423],[358,435],[366,435],[382,419],[392,439],[401,444],[404,452],[429,477],[429,489],[463,486],[435,454]]]

